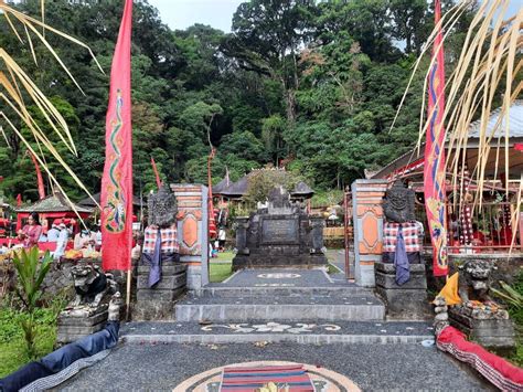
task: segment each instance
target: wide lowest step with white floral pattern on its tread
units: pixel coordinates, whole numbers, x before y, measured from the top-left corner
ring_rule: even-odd
[[[421,321],[253,320],[198,322],[129,322],[120,330],[128,343],[415,343],[433,340],[430,324]]]

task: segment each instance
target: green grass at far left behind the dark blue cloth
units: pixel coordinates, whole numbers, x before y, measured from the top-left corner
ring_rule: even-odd
[[[41,358],[53,351],[56,324],[49,309],[41,309],[36,317],[39,320],[36,351],[38,357]],[[25,353],[25,340],[19,320],[18,311],[0,307],[0,378],[31,361]]]

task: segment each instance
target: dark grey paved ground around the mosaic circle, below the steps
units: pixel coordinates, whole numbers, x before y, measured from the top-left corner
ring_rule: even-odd
[[[363,391],[492,390],[433,347],[415,345],[130,345],[84,370],[57,390],[169,391],[212,368],[255,360],[284,360],[327,368]]]

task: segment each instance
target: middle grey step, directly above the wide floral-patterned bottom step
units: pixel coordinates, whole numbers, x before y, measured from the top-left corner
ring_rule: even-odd
[[[174,306],[178,321],[383,320],[385,306],[372,295],[191,297]]]

